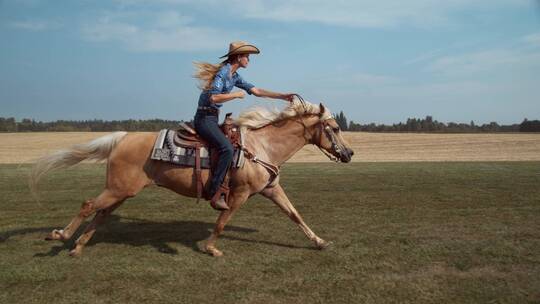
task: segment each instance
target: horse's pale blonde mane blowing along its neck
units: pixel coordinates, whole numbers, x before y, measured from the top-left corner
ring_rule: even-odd
[[[250,108],[238,116],[236,124],[242,128],[259,129],[267,126],[271,123],[279,122],[288,118],[301,116],[305,114],[321,114],[319,105],[314,105],[309,102],[302,102],[295,98],[285,109],[279,111],[278,109],[268,109],[265,107],[253,107]],[[328,119],[331,117],[330,112],[325,109],[321,119]]]

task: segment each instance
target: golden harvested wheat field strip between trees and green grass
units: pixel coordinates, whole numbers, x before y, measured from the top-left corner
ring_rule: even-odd
[[[108,132],[0,133],[0,163],[29,163],[52,151]],[[425,134],[345,132],[355,162],[540,161],[540,134]],[[291,162],[328,161],[306,146]]]

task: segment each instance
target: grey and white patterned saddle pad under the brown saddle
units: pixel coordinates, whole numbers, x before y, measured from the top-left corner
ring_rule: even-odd
[[[163,129],[159,132],[159,135],[154,143],[152,149],[151,159],[161,160],[168,163],[173,163],[179,166],[195,167],[195,153],[196,150],[193,147],[181,147],[174,143],[174,136],[176,131]],[[210,169],[210,152],[208,147],[203,146],[199,150],[201,157],[201,168]],[[240,149],[236,149],[233,155],[232,166],[239,168],[243,165],[244,154]]]

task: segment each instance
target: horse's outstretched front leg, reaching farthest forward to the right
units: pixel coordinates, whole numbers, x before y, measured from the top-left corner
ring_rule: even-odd
[[[308,227],[308,225],[306,225],[306,223],[304,222],[304,220],[302,219],[298,211],[296,211],[296,209],[292,205],[291,201],[289,201],[289,198],[285,194],[285,191],[283,191],[283,188],[281,187],[281,185],[278,184],[272,188],[266,188],[261,192],[261,194],[264,197],[267,197],[270,200],[272,200],[276,205],[279,206],[279,208],[281,208],[281,210],[283,210],[283,212],[285,212],[285,214],[289,216],[291,220],[293,220],[296,224],[298,224],[300,229],[304,231],[308,239],[312,240],[315,243],[317,248],[324,249],[328,247],[330,244],[332,244],[331,242],[327,242],[321,239],[320,237],[318,237]]]

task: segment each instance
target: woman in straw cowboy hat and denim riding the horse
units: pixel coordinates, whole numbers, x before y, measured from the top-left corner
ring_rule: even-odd
[[[218,190],[220,190],[227,169],[231,165],[234,153],[231,143],[219,129],[219,108],[224,102],[244,98],[245,95],[243,91],[231,92],[233,87],[236,86],[257,97],[283,99],[289,102],[292,102],[295,95],[274,93],[256,88],[240,77],[237,70],[247,68],[250,54],[259,53],[257,47],[243,41],[235,41],[229,45],[229,52],[220,57],[227,57],[221,64],[195,63],[197,67],[195,77],[201,80],[202,89],[194,119],[195,130],[219,153],[219,160],[208,188],[212,198],[210,205],[216,210],[229,209],[225,196],[222,195],[222,191]]]

